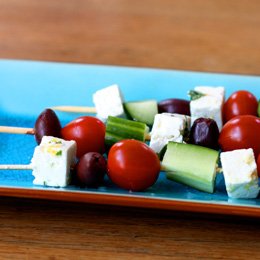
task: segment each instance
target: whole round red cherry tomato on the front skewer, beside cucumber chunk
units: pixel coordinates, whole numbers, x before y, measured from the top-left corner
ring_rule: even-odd
[[[156,182],[159,173],[158,156],[141,141],[122,140],[109,151],[108,176],[123,189],[145,190]]]

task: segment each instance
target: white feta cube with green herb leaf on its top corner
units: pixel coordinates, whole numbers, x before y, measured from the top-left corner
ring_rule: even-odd
[[[199,86],[194,90],[202,93],[203,96],[190,102],[191,124],[199,117],[211,118],[216,121],[220,131],[223,126],[224,87]]]

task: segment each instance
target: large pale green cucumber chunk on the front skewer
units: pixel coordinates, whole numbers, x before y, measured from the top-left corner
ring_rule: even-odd
[[[219,153],[206,147],[169,142],[162,161],[168,179],[213,193]]]

